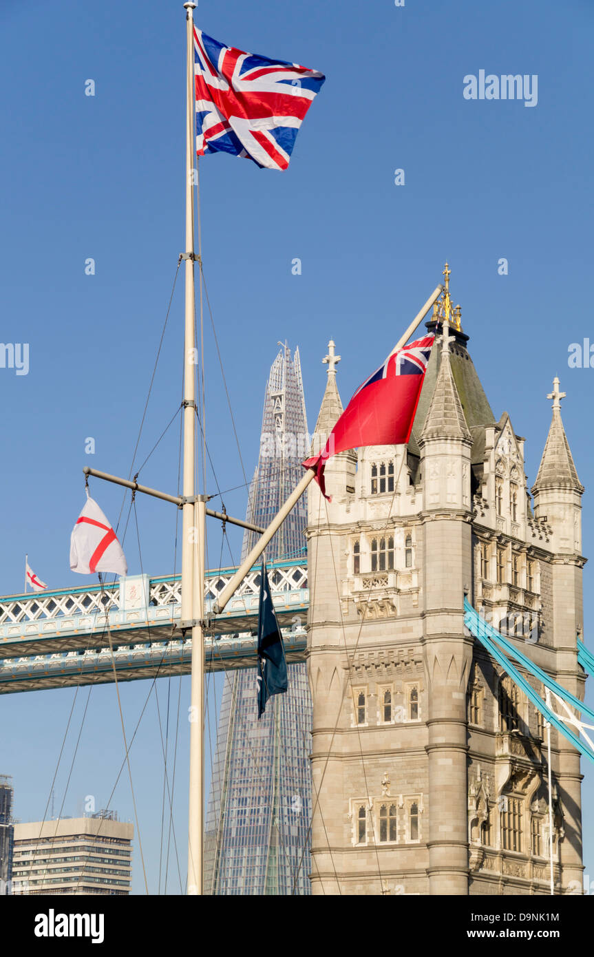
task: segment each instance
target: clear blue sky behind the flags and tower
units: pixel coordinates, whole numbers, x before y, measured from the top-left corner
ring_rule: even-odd
[[[324,385],[330,337],[342,356],[343,399],[384,358],[451,263],[473,360],[495,414],[527,436],[536,478],[550,422],[553,376],[586,486],[583,551],[592,552],[594,369],[569,369],[567,349],[592,332],[591,38],[587,0],[373,4],[200,0],[207,33],[253,53],[295,60],[327,81],[297,138],[289,170],[245,160],[202,164],[204,262],[246,469],[257,455],[265,378],[277,340],[299,345],[310,425]],[[0,369],[2,548],[0,592],[22,589],[25,552],[51,586],[81,584],[68,567],[83,502],[82,466],[128,472],[143,402],[184,241],[185,20],[181,2],[55,2],[0,6],[3,150],[2,329],[30,344],[30,372]],[[538,75],[538,105],[465,100],[467,74]],[[96,96],[84,95],[88,78]],[[404,168],[406,185],[394,185]],[[87,257],[96,275],[85,276]],[[291,262],[302,260],[301,276]],[[500,257],[509,275],[497,274]],[[140,458],[180,400],[183,284],[173,303]],[[592,336],[594,341],[594,336]],[[207,336],[210,453],[223,488],[243,482],[212,337]],[[88,436],[96,455],[84,454]],[[175,489],[177,435],[143,469]],[[213,488],[209,478],[209,491]],[[115,521],[121,495],[94,485]],[[242,514],[246,495],[225,497]],[[173,568],[175,509],[139,501],[143,569]],[[131,572],[140,571],[135,535]],[[237,548],[237,539],[233,548]],[[220,537],[210,539],[218,564]],[[585,636],[592,568],[584,571]],[[133,727],[147,682],[122,686]],[[168,682],[159,685],[162,714]],[[178,683],[170,687],[177,702]],[[73,689],[0,700],[0,772],[14,777],[15,813],[44,811]],[[78,693],[78,730],[87,691]],[[590,696],[592,700],[592,696]],[[182,684],[182,715],[188,682]],[[176,706],[176,704],[175,704]],[[174,708],[172,704],[172,714]],[[171,721],[174,723],[174,719]],[[170,723],[171,727],[171,723]],[[132,766],[149,888],[159,881],[163,764],[154,697]],[[76,742],[57,779],[64,796]],[[186,868],[187,722],[182,721],[175,824]],[[122,757],[113,686],[92,691],[64,813],[84,795],[107,800]],[[594,875],[585,767],[586,872]],[[132,817],[125,777],[113,806]],[[140,855],[135,890],[143,890]],[[171,879],[168,888],[179,890]],[[162,882],[163,887],[163,882]]]

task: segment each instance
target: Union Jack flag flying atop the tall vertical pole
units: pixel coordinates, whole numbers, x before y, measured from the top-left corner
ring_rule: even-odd
[[[297,63],[226,47],[194,28],[196,153],[245,156],[286,169],[325,77]]]

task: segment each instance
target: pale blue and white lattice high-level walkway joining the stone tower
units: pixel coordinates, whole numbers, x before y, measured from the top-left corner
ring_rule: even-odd
[[[207,572],[207,619],[234,570]],[[287,659],[304,660],[307,566],[275,562],[269,576]],[[207,671],[255,666],[258,593],[259,568],[253,568],[225,612],[210,621]],[[114,680],[114,666],[119,681],[188,674],[191,639],[179,628],[180,598],[179,575],[0,598],[0,694],[105,683]]]

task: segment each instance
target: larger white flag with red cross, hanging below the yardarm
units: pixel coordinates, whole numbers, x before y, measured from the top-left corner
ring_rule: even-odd
[[[125,575],[128,570],[115,531],[90,496],[70,536],[70,568],[81,575],[96,571]]]

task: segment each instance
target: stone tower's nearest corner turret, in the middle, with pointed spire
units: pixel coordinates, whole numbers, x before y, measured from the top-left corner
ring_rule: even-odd
[[[429,894],[459,895],[468,894],[466,690],[473,642],[464,634],[463,603],[472,582],[473,439],[451,374],[450,343],[445,317],[441,366],[419,447],[423,654],[429,691]]]

